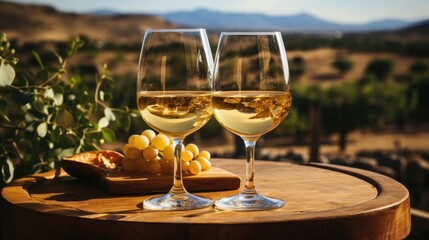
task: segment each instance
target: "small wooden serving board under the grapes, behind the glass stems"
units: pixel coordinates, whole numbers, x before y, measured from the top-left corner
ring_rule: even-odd
[[[223,191],[240,188],[240,177],[222,168],[211,167],[198,175],[183,175],[188,191]],[[173,174],[142,175],[116,172],[101,179],[102,188],[111,194],[165,193],[173,184]]]

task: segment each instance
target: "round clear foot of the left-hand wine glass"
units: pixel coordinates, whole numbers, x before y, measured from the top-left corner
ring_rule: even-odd
[[[209,207],[213,201],[209,198],[198,197],[190,193],[167,193],[143,201],[143,208],[149,210],[190,210]]]

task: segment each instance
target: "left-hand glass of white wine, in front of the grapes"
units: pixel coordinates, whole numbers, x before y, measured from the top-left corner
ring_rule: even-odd
[[[144,121],[169,136],[174,147],[171,190],[146,199],[145,209],[186,210],[211,206],[211,199],[186,191],[181,152],[185,137],[212,114],[213,58],[204,29],[148,29],[137,77],[137,106]]]

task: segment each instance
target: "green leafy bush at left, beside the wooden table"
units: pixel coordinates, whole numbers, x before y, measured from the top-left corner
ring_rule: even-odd
[[[115,141],[109,127],[128,131],[135,113],[112,108],[115,81],[107,66],[95,79],[95,91],[81,76],[69,72],[68,61],[84,45],[79,38],[56,63],[46,64],[32,52],[38,68],[13,73],[18,63],[6,35],[0,35],[0,182],[58,168],[62,157],[100,148]],[[8,66],[8,70],[3,70]],[[11,70],[12,69],[12,70]]]

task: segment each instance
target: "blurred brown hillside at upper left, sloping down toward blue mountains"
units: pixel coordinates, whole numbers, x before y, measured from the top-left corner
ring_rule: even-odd
[[[177,27],[159,17],[143,14],[101,16],[60,12],[43,5],[0,1],[0,31],[20,42],[68,40],[85,35],[92,40],[139,42],[146,28]]]

